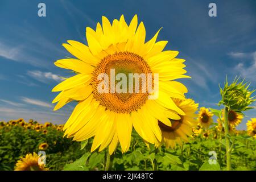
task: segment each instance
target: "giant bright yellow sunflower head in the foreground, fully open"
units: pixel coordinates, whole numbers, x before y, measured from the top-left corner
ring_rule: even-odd
[[[163,51],[167,41],[156,42],[159,31],[145,43],[146,30],[143,22],[138,26],[137,15],[129,25],[123,15],[112,24],[102,16],[102,26],[97,23],[96,31],[86,27],[88,46],[74,40],[63,44],[76,58],[57,60],[55,65],[77,74],[52,89],[52,92],[61,91],[53,100],[57,102],[55,110],[73,100],[79,101],[65,123],[64,135],[77,141],[94,137],[91,151],[98,147],[102,151],[109,146],[112,154],[118,143],[122,152],[129,150],[133,127],[145,141],[154,144],[162,139],[158,120],[171,126],[168,118],[181,119],[185,113],[172,98],[184,99],[187,93],[183,84],[174,81],[188,78],[183,75],[185,60],[176,58],[177,51]],[[118,73],[151,75],[152,79],[148,80],[154,91],[145,90],[142,86],[145,84],[140,83],[127,92],[125,85],[112,79]],[[102,74],[110,77],[110,81],[104,80],[104,85],[99,80]],[[123,80],[127,86],[126,81]],[[122,86],[121,93],[115,92],[118,84],[119,88]]]

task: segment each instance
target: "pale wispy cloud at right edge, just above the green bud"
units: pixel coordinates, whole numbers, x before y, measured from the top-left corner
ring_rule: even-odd
[[[234,58],[242,59],[242,62],[238,63],[234,70],[240,74],[240,76],[249,79],[250,81],[255,82],[256,78],[256,51],[252,53],[237,53],[234,52],[230,55]],[[248,64],[246,61],[249,61]]]

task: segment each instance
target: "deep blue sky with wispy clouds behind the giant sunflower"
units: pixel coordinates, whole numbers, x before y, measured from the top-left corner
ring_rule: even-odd
[[[46,3],[46,17],[38,4]],[[208,5],[217,5],[217,17],[208,16]],[[0,2],[0,120],[33,118],[64,123],[74,104],[52,111],[56,96],[51,89],[59,76],[72,74],[53,62],[71,56],[61,46],[67,40],[86,43],[85,27],[96,27],[101,16],[110,20],[134,14],[143,20],[150,39],[160,27],[158,40],[166,49],[179,51],[192,79],[181,80],[187,97],[200,106],[217,108],[218,83],[240,75],[256,84],[256,1],[1,1]],[[247,111],[238,129],[256,117]]]

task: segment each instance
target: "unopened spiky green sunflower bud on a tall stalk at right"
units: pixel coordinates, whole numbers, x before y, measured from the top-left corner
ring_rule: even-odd
[[[251,94],[255,90],[249,90],[250,83],[244,82],[244,79],[241,82],[238,81],[239,78],[234,78],[232,84],[229,85],[226,79],[224,88],[220,88],[222,100],[218,105],[223,104],[229,107],[229,109],[238,112],[253,109],[254,107],[250,107],[249,105],[256,101],[256,99],[254,99],[255,96],[251,97]]]

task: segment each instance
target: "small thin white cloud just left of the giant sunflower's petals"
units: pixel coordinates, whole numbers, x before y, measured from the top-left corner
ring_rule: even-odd
[[[47,83],[51,80],[55,80],[57,82],[62,81],[63,79],[60,76],[57,76],[51,72],[42,72],[42,71],[28,71],[27,75],[34,78],[35,80],[38,80],[40,82]]]

